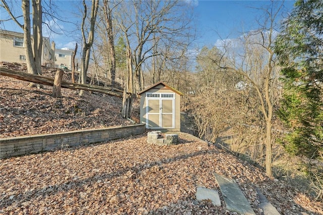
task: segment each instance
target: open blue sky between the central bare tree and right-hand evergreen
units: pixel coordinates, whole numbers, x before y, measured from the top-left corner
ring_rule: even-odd
[[[294,3],[285,1],[285,10],[291,11]],[[198,1],[195,6],[198,44],[212,46],[219,39],[237,38],[242,32],[256,29],[256,20],[263,13],[256,8],[270,4],[270,1]]]

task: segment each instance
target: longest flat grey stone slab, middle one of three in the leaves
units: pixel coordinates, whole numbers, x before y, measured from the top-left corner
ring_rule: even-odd
[[[236,182],[217,173],[214,173],[214,176],[220,186],[228,210],[239,214],[255,214]]]

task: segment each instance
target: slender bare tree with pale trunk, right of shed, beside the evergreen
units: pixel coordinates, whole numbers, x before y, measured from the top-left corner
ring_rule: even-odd
[[[275,27],[277,17],[280,15],[283,5],[277,6],[271,3],[270,8],[261,9],[266,15],[259,20],[260,28],[243,35],[242,41],[235,42],[243,51],[232,52],[230,44],[224,41],[224,55],[213,63],[219,68],[232,71],[245,78],[255,90],[255,96],[259,101],[260,111],[265,125],[265,167],[266,174],[272,176],[272,145],[275,139],[272,136],[273,109],[278,100],[274,95],[278,86],[277,79],[279,68],[275,66],[273,42],[275,38]],[[231,44],[232,45],[232,44]],[[226,57],[226,61],[223,61]],[[247,85],[246,85],[247,86]]]

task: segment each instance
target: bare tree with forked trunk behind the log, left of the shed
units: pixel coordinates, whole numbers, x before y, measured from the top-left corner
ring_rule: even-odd
[[[98,6],[99,6],[99,1],[92,0],[90,23],[89,23],[90,27],[88,29],[88,34],[86,38],[85,21],[87,17],[87,5],[85,0],[83,0],[84,13],[83,13],[82,25],[81,25],[83,46],[82,46],[82,56],[81,56],[82,65],[81,65],[81,73],[80,73],[80,79],[82,84],[86,84],[86,73],[89,67],[91,47],[93,45],[93,40],[94,40],[94,26],[96,22]],[[84,94],[84,91],[81,90],[80,95],[83,95],[83,94]]]

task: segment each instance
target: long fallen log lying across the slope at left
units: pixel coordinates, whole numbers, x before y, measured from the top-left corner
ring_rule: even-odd
[[[33,75],[29,73],[17,72],[3,67],[0,67],[0,75],[8,76],[22,81],[33,82],[36,84],[48,85],[48,86],[53,86],[53,83],[54,83],[53,78],[40,76],[40,75]],[[123,96],[123,90],[113,88],[113,87],[102,87],[102,86],[89,85],[89,84],[76,84],[76,83],[67,82],[67,81],[62,81],[61,87],[75,89],[75,90],[87,90],[87,91],[93,91],[93,92],[100,92],[107,95],[118,96],[118,97]]]

